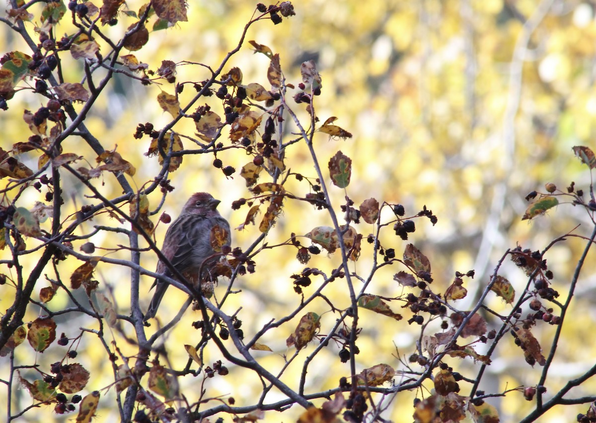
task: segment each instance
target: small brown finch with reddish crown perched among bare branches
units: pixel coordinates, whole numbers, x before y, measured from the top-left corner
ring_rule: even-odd
[[[167,228],[163,241],[163,255],[182,275],[193,282],[198,290],[201,289],[201,280],[209,274],[210,268],[222,256],[221,247],[230,245],[231,242],[229,223],[216,210],[219,203],[219,200],[207,192],[193,194],[182,207],[178,219]],[[200,270],[202,274],[198,275]],[[156,273],[172,277],[172,272],[162,260],[157,263]],[[159,279],[153,282],[151,288],[157,288],[145,315],[145,321],[155,317],[167,285],[167,282]]]

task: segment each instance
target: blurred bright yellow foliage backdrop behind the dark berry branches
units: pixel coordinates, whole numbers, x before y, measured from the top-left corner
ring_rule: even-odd
[[[127,4],[130,10],[138,10],[142,5],[136,1]],[[157,69],[162,60],[188,60],[215,69],[238,42],[254,7],[253,2],[239,0],[193,1],[188,7],[188,23],[181,22],[171,29],[151,33],[147,45],[134,54],[150,69]],[[337,125],[353,133],[353,138],[346,141],[316,135],[315,148],[320,163],[325,166],[337,150],[352,157],[353,175],[347,194],[356,204],[375,197],[379,201],[401,203],[410,214],[417,213],[424,205],[433,210],[439,218],[437,225],[432,226],[426,219],[419,220],[411,242],[429,257],[434,284],[438,287],[448,287],[456,270],[476,270],[474,279],[465,285],[470,299],[461,300],[463,305],[458,306],[465,309],[465,301],[471,304],[507,248],[519,244],[532,250],[542,249],[553,238],[566,234],[578,224],[581,226],[575,229],[576,234],[589,234],[592,223],[588,214],[571,204],[562,204],[532,222],[522,221],[521,217],[527,207],[526,194],[533,190],[544,192],[545,182],[553,182],[563,191],[572,181],[585,192],[589,189],[589,172],[573,157],[572,147],[596,147],[592,141],[596,122],[596,21],[592,2],[302,0],[294,7],[296,16],[284,19],[279,25],[271,21],[254,24],[247,40],[278,52],[286,79],[296,85],[300,82],[300,64],[315,60],[323,83],[322,94],[316,98],[319,118],[324,121],[327,117],[337,116]],[[105,27],[105,30],[119,39],[133,21],[121,15],[119,24]],[[67,22],[58,26],[58,33],[71,31]],[[29,52],[17,34],[5,25],[0,25],[0,49],[2,52]],[[73,60],[68,63],[66,79],[80,80],[80,64]],[[244,81],[266,86],[268,59],[254,55],[247,43],[226,69],[232,66],[243,70]],[[179,66],[177,82],[202,80],[208,76],[200,66]],[[157,105],[160,89],[170,94],[174,90],[173,85],[167,83],[160,87],[144,86],[125,76],[116,76],[86,119],[86,125],[105,148],[117,145],[117,151],[135,165],[137,173],[131,179],[133,186],[141,186],[158,170],[156,158],[142,155],[148,150],[147,139],[139,141],[132,135],[138,123],[151,122],[159,128],[169,122],[169,114],[162,113]],[[187,89],[181,95],[182,103],[184,98],[191,98],[193,93],[190,91]],[[26,141],[29,136],[21,119],[23,109],[35,111],[42,105],[40,98],[27,92],[18,93],[16,97],[18,99],[10,102],[9,110],[0,111],[0,144],[5,150],[9,150],[14,142]],[[294,109],[307,122],[302,105],[296,105]],[[182,123],[176,130],[193,133],[194,127]],[[291,130],[289,127],[288,131]],[[65,151],[69,148],[86,157],[95,157],[76,136],[64,145]],[[33,154],[23,156],[21,160],[35,168],[36,157]],[[224,166],[231,165],[237,170],[250,161],[237,151],[224,152],[218,158]],[[247,196],[244,180],[238,174],[234,178],[225,178],[212,166],[212,160],[210,155],[184,158],[181,168],[170,175],[176,191],[167,197],[164,210],[175,216],[182,198],[195,191],[209,191],[222,200],[222,214],[231,226],[238,226],[243,223],[247,209],[234,211],[230,205]],[[301,145],[288,150],[287,166],[305,176],[315,176],[308,151]],[[66,174],[64,178],[64,198],[68,207],[76,210],[82,204],[93,203],[85,197],[89,192],[82,185]],[[111,176],[105,175],[97,181],[101,182],[101,190],[108,197],[120,194],[120,188]],[[308,192],[308,187],[303,184],[296,183],[288,188],[297,194]],[[331,192],[339,207],[346,192],[335,187],[331,187]],[[20,198],[19,204],[27,207],[35,200],[36,192],[30,189]],[[150,201],[152,207],[159,204],[159,193],[151,196]],[[93,224],[96,223],[89,223],[86,229],[90,230]],[[268,241],[273,244],[287,240],[291,232],[306,234],[314,226],[329,224],[324,212],[287,202]],[[356,226],[364,235],[373,231],[372,226],[364,222]],[[165,225],[158,226],[156,237],[159,242],[165,231]],[[235,232],[234,245],[246,248],[257,235],[254,226]],[[399,256],[406,242],[396,241],[390,231],[383,237],[381,242],[395,248]],[[95,245],[113,247],[117,242],[125,244],[127,240],[98,234],[92,241]],[[304,243],[308,245],[308,242]],[[555,274],[555,288],[560,293],[566,290],[583,246],[581,240],[570,238],[552,248],[547,255]],[[111,255],[126,257],[122,252]],[[361,260],[354,265],[355,270],[366,274],[371,266],[370,256],[371,250],[366,244]],[[155,263],[154,254],[143,254],[142,265],[153,269]],[[337,257],[321,254],[313,257],[309,266],[330,272],[338,263]],[[593,263],[594,256],[590,255],[576,293],[576,306],[565,322],[564,339],[558,346],[560,355],[550,373],[552,380],[548,390],[552,393],[565,381],[594,365],[596,351],[589,342],[596,319]],[[29,263],[29,266],[34,264]],[[61,266],[68,272],[79,264],[73,261]],[[303,267],[290,247],[265,251],[259,256],[257,273],[241,279],[243,294],[228,304],[228,311],[242,307],[240,316],[245,333],[258,330],[265,322],[286,313],[288,306],[299,302],[289,276]],[[394,267],[379,272],[371,292],[385,296],[401,294],[402,288],[392,281],[393,273],[398,270],[402,269]],[[502,274],[512,282],[519,295],[526,284],[523,273],[507,262]],[[128,270],[100,265],[96,276],[105,291],[113,292],[119,312],[126,314],[130,295]],[[148,289],[151,283],[150,279],[142,281],[141,294],[145,304],[150,299]],[[40,281],[40,288],[42,286]],[[0,293],[0,309],[5,309],[11,302],[10,291],[3,288]],[[338,304],[346,301],[344,294],[345,288],[340,284],[331,288],[330,296],[336,298]],[[169,292],[168,296],[171,309],[166,307],[164,313],[173,316],[185,296],[176,292]],[[66,306],[68,300],[66,296],[58,296],[52,301],[55,301],[52,307],[58,309]],[[497,312],[510,310],[496,296],[489,298],[489,306]],[[312,311],[322,314],[327,310],[324,301],[313,304]],[[35,319],[36,313],[38,310],[32,307],[30,320]],[[400,367],[396,356],[407,357],[412,353],[420,335],[420,326],[405,323],[410,317],[408,313],[403,310],[405,319],[402,322],[364,314],[361,320],[364,330],[358,344],[361,349],[359,369],[383,362]],[[189,341],[190,322],[197,318],[196,312],[189,311],[179,327],[164,340],[170,362],[175,367],[185,363],[187,356],[183,344],[192,343]],[[331,313],[323,315],[322,333],[326,333],[325,327],[330,327],[334,319]],[[284,354],[293,353],[285,347],[285,338],[296,323],[297,320],[292,321],[266,335],[263,343],[272,347],[274,353],[257,355],[262,356],[260,360],[269,368],[281,369]],[[91,320],[65,318],[58,322],[58,332],[74,337],[79,334],[79,327],[94,324]],[[439,331],[438,327],[436,329]],[[429,328],[428,334],[433,333]],[[548,325],[536,330],[545,349],[549,348],[552,333],[553,328]],[[200,334],[197,332],[194,336],[198,340]],[[105,363],[105,351],[95,348],[95,343],[97,340],[85,335],[79,347],[84,354],[79,353],[78,359],[92,374],[87,387],[89,391],[105,388],[113,381]],[[117,340],[117,344],[125,354],[135,351],[134,346],[127,345],[122,339]],[[64,350],[55,347],[35,356],[27,348],[22,346],[17,350],[22,362],[52,363],[64,354]],[[312,346],[304,353],[309,349],[312,350]],[[338,351],[330,348],[327,356],[321,354],[312,363],[309,391],[335,387],[339,378],[349,372],[347,365],[337,360]],[[215,351],[206,353],[206,362],[219,358]],[[474,371],[473,363],[466,361],[462,364],[460,361],[452,359],[450,365],[462,374]],[[296,383],[301,365],[299,357],[283,380],[288,384]],[[513,338],[507,337],[496,350],[493,365],[488,370],[486,391],[535,385],[541,371],[538,365],[535,369],[527,365]],[[3,379],[8,377],[6,371],[0,374]],[[470,376],[473,374],[469,373]],[[26,375],[25,371],[23,375]],[[185,377],[181,384],[186,390],[199,390],[201,376]],[[468,387],[462,382],[460,385],[461,393],[465,394]],[[242,404],[254,400],[260,384],[248,373],[234,372],[233,379],[215,378],[207,381],[206,386],[210,394],[230,394]],[[573,396],[593,394],[594,388],[594,384],[587,383],[573,391]],[[423,391],[400,393],[383,415],[396,422],[411,421],[412,400],[428,394]],[[5,405],[2,399],[5,395],[6,390],[2,388],[0,410]],[[117,410],[110,409],[113,402],[109,398],[114,396],[113,389],[102,391],[102,395],[107,398],[100,403],[100,408],[102,404],[104,408],[98,413],[98,421],[113,421],[117,418]],[[268,399],[274,401],[281,396],[272,393]],[[508,394],[491,403],[498,407],[501,421],[516,421],[532,406],[523,400],[521,393]],[[13,408],[22,409],[29,404],[28,393],[15,390]],[[564,416],[575,416],[585,409],[586,406],[555,408],[541,421],[562,421],[566,419]],[[55,421],[72,418],[54,415],[51,410],[49,407],[34,410],[22,419],[39,421],[42,413]],[[297,408],[283,415],[268,412],[265,419],[293,421],[299,412]]]

